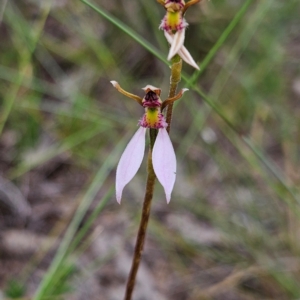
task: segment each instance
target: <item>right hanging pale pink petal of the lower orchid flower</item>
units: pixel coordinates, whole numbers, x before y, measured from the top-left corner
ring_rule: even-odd
[[[167,202],[169,203],[176,179],[176,156],[165,128],[158,130],[153,147],[152,163],[154,172],[165,190]]]

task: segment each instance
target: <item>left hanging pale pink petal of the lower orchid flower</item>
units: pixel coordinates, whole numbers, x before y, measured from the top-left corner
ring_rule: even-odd
[[[141,166],[145,152],[146,128],[140,127],[126,146],[117,167],[116,197],[121,203],[125,185],[134,177]]]

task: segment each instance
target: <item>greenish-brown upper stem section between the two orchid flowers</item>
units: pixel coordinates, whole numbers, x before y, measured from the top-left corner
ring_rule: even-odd
[[[178,83],[181,80],[181,69],[182,69],[182,60],[179,55],[175,55],[172,58],[171,66],[171,78],[170,78],[170,89],[168,98],[172,98],[176,95],[176,90]],[[168,105],[166,122],[168,123],[167,131],[170,132],[171,122],[172,122],[172,113],[173,113],[173,103]]]

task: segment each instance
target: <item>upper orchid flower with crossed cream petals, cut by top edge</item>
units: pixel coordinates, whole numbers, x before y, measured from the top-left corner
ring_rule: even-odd
[[[191,54],[183,46],[185,38],[185,29],[188,23],[184,19],[186,10],[195,3],[201,0],[191,0],[185,3],[184,0],[157,0],[166,9],[159,29],[164,30],[165,37],[171,45],[168,60],[175,54],[178,54],[186,63],[199,70],[198,65],[194,61]]]

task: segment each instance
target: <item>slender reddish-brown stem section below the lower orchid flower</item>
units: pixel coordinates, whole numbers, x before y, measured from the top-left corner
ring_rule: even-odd
[[[150,130],[150,136],[151,136],[151,130]],[[131,270],[128,276],[124,300],[131,300],[132,292],[134,289],[135,279],[141,261],[148,221],[150,217],[150,209],[151,209],[151,202],[153,198],[155,179],[156,176],[152,166],[152,149],[150,148],[148,153],[148,177],[147,177],[146,192],[144,197],[142,219],[140,222],[139,232],[136,239],[134,256],[132,260]]]

